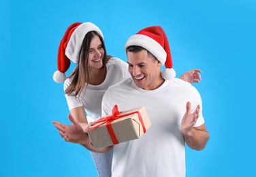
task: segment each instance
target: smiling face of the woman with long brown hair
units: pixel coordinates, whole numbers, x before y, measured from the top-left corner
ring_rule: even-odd
[[[89,51],[89,67],[99,69],[102,67],[102,59],[104,56],[104,49],[102,47],[101,40],[98,35],[95,35],[91,40],[90,51]]]

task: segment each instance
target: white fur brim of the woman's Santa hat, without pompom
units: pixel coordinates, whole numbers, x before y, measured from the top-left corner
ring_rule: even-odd
[[[84,22],[75,29],[69,39],[69,42],[67,43],[65,54],[75,64],[78,64],[78,61],[80,59],[79,54],[82,46],[82,41],[84,40],[84,36],[90,31],[97,31],[103,38],[103,33],[101,32],[99,27],[94,25],[92,22]]]

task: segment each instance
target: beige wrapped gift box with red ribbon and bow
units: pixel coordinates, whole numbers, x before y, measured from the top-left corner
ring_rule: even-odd
[[[88,129],[91,144],[94,148],[102,148],[135,140],[148,130],[151,123],[144,106],[118,111],[114,106],[112,115],[96,120]]]

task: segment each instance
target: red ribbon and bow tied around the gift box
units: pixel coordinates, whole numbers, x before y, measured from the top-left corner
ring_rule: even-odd
[[[119,112],[119,111],[118,111],[117,105],[115,105],[114,108],[112,109],[112,115],[106,116],[106,117],[103,117],[103,118],[99,118],[98,120],[96,120],[96,121],[94,122],[94,124],[95,124],[95,123],[100,123],[100,124],[99,124],[99,125],[96,125],[95,127],[89,127],[88,129],[95,129],[95,128],[97,128],[97,127],[99,127],[99,126],[101,126],[101,125],[107,123],[107,124],[106,124],[106,127],[107,127],[107,129],[108,129],[108,133],[110,133],[110,138],[111,138],[113,144],[118,144],[118,140],[117,140],[117,138],[116,138],[116,134],[114,133],[114,130],[113,130],[113,128],[112,128],[111,123],[112,123],[114,120],[118,119],[118,118],[121,118],[121,117],[124,117],[124,116],[129,116],[129,115],[131,115],[131,114],[138,114],[140,123],[142,124],[143,132],[146,133],[146,127],[145,127],[145,125],[144,125],[144,122],[143,122],[143,120],[142,120],[142,116],[141,116],[141,114],[140,114],[139,111],[130,112],[130,113],[127,113],[127,114],[120,115],[121,113],[122,113],[122,112]]]

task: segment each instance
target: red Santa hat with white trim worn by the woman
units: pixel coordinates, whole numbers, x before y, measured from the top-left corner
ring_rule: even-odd
[[[86,33],[90,31],[97,31],[99,35],[103,38],[103,33],[91,22],[74,22],[71,24],[67,31],[65,32],[63,39],[59,45],[58,55],[57,55],[57,67],[58,70],[53,74],[53,80],[55,82],[61,83],[66,79],[65,72],[69,69],[72,61],[78,64],[80,59],[80,50],[82,46],[82,41]]]

